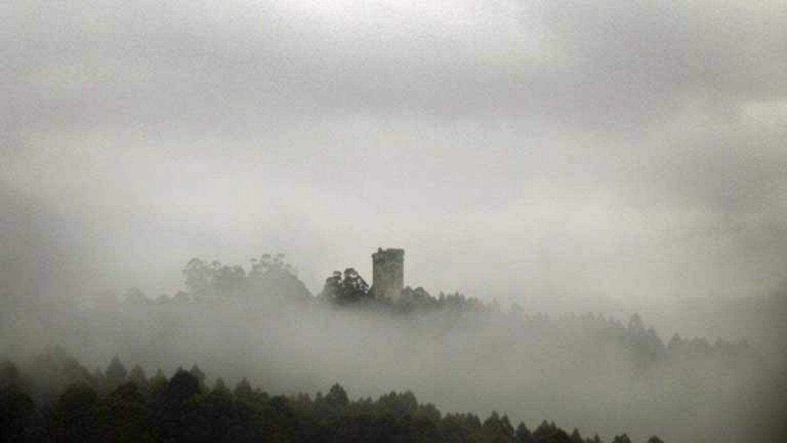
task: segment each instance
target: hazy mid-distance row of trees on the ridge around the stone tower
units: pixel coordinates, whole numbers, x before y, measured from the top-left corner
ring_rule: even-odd
[[[600,338],[630,349],[638,363],[648,364],[692,357],[721,356],[737,358],[755,356],[748,341],[730,342],[717,338],[714,342],[706,338],[683,338],[672,335],[663,341],[656,330],[645,327],[640,316],[634,314],[627,323],[617,319],[593,314],[573,314],[550,319],[544,314],[527,313],[519,305],[504,311],[497,301],[485,303],[462,293],[439,293],[431,295],[423,287],[407,286],[401,297],[393,301],[375,297],[363,276],[354,268],[334,271],[325,279],[323,289],[312,295],[305,284],[297,278],[294,267],[286,262],[283,254],[263,254],[253,258],[249,270],[239,265],[221,264],[217,260],[191,259],[183,268],[185,290],[174,296],[161,295],[155,300],[146,297],[136,288],[124,294],[126,308],[153,308],[155,306],[211,305],[234,303],[253,309],[275,309],[286,305],[321,305],[340,309],[356,309],[378,312],[384,315],[412,316],[443,313],[449,318],[493,319],[497,323],[523,330],[581,328],[583,334],[589,330]],[[115,299],[112,293],[103,294],[103,299]]]

